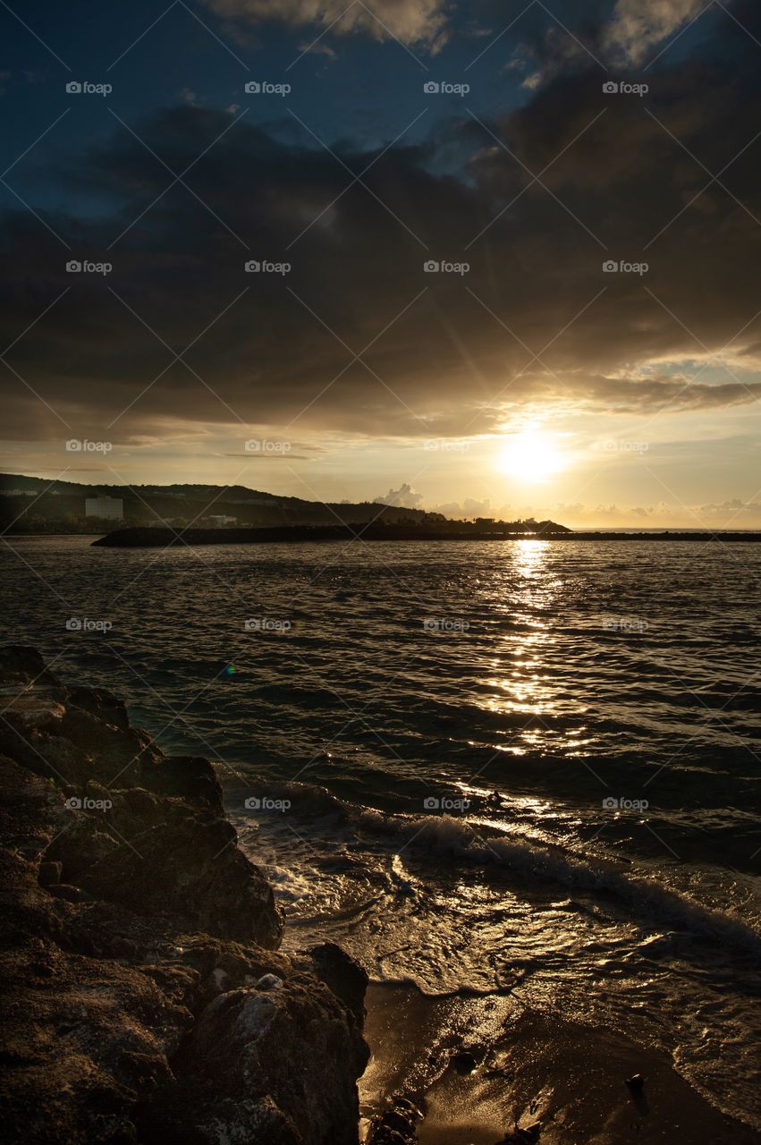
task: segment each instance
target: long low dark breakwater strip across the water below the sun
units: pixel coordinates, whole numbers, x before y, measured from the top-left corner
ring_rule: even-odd
[[[419,529],[411,526],[277,526],[236,529],[117,529],[93,545],[106,548],[167,548],[172,545],[264,545],[335,540],[691,540],[761,542],[761,532],[516,532],[500,529]]]

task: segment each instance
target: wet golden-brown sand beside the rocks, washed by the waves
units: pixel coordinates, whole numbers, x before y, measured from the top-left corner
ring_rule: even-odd
[[[373,985],[366,1004],[363,1113],[411,1098],[426,1111],[420,1145],[761,1145],[761,1134],[719,1112],[665,1053],[620,1034],[505,995],[431,998]],[[473,1060],[455,1058],[463,1051]],[[639,1091],[626,1084],[633,1074],[644,1079]]]

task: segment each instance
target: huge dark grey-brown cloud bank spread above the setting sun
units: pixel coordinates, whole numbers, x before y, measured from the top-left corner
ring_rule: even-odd
[[[651,23],[661,9],[649,5]],[[755,9],[732,10],[761,38]],[[728,17],[720,32],[679,65],[666,54],[645,98],[605,96],[573,54],[524,108],[479,123],[465,101],[426,143],[383,153],[327,140],[331,155],[287,111],[286,131],[165,110],[130,125],[148,148],[114,120],[50,172],[96,211],[54,213],[24,188],[71,252],[21,205],[2,218],[16,274],[0,333],[18,338],[7,362],[21,376],[0,366],[16,398],[6,434],[68,436],[51,409],[80,436],[237,424],[243,442],[257,425],[485,432],[547,400],[653,412],[756,400],[739,371],[761,344],[761,49]],[[548,42],[534,45],[544,63]],[[439,163],[452,153],[467,164]],[[156,156],[189,168],[192,191],[169,187]],[[113,269],[66,274],[69,258]],[[426,273],[431,259],[469,269]],[[649,269],[605,274],[608,259]],[[248,260],[291,270],[247,274]],[[664,371],[690,360],[691,384],[687,365]]]

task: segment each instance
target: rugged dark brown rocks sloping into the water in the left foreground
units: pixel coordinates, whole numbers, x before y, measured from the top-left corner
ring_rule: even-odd
[[[211,764],[0,649],[2,1122],[13,1143],[355,1145],[366,977],[282,923]]]

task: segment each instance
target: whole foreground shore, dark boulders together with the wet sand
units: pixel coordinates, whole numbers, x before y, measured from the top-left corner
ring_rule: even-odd
[[[665,1053],[520,990],[365,994],[333,942],[279,953],[211,764],[33,649],[0,650],[0,687],[11,1142],[761,1143]]]

